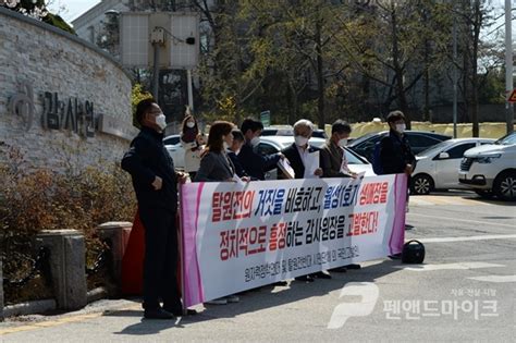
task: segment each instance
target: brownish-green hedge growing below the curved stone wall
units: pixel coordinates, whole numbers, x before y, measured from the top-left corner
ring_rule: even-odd
[[[133,220],[136,200],[131,179],[118,164],[57,173],[30,169],[20,150],[0,148],[0,246],[5,278],[28,273],[30,242],[41,230],[82,231],[91,264],[102,248],[96,228],[107,221]]]

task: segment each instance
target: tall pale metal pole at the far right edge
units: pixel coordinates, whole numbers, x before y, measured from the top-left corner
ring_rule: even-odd
[[[513,81],[513,29],[511,23],[511,0],[505,0],[505,90],[507,97],[514,89]],[[514,131],[514,110],[513,103],[505,102],[505,123],[507,133]]]

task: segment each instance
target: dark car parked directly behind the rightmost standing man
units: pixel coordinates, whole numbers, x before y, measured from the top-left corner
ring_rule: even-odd
[[[364,156],[369,161],[372,161],[374,145],[388,134],[389,131],[366,134],[359,138],[354,139],[347,145],[347,147],[358,155]],[[421,152],[432,145],[452,138],[451,136],[428,131],[405,131],[405,135],[407,136],[408,144],[410,144],[414,155]]]

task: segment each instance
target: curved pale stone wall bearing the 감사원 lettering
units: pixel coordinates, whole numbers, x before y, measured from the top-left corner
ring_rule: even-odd
[[[22,84],[32,88],[30,100],[26,100],[29,91],[27,86],[22,90]],[[66,108],[69,101],[74,106],[75,99],[83,106],[91,102],[93,118],[108,114],[130,134],[122,138],[96,130],[94,137],[85,137],[81,130],[91,117],[83,117],[82,125],[76,117],[76,130],[63,124],[66,127],[45,128],[46,91],[57,93]],[[10,101],[16,96],[21,99],[20,95],[16,114]],[[83,112],[76,109],[76,113]],[[32,166],[54,170],[106,164],[120,161],[127,149],[128,137],[136,133],[131,123],[131,79],[114,60],[75,36],[0,9],[0,148],[16,147]],[[0,154],[2,158],[4,154]]]

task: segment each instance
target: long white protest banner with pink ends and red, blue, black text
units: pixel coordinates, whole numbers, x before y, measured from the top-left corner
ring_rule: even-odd
[[[401,253],[406,196],[404,174],[185,184],[184,305]]]

